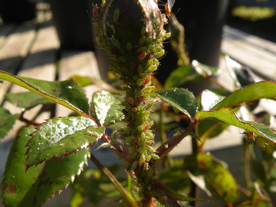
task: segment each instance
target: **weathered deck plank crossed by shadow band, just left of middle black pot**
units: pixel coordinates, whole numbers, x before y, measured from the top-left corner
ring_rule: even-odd
[[[38,30],[36,40],[30,48],[30,54],[25,59],[24,64],[20,68],[17,75],[35,79],[43,79],[54,81],[56,77],[56,56],[59,41],[56,35],[56,30],[53,26],[45,26]],[[10,92],[27,91],[26,89],[13,85]],[[9,102],[4,102],[3,107],[10,110],[11,113],[21,113],[21,109],[12,105]],[[24,117],[33,119],[41,106],[37,106],[28,110]],[[50,113],[42,113],[36,117],[36,121],[41,123],[45,119],[50,118]],[[12,139],[15,137],[17,130],[24,125],[23,122],[17,121],[13,130],[11,130],[5,139]]]

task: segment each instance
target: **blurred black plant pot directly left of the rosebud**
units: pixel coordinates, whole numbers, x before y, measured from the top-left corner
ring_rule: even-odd
[[[62,49],[94,50],[92,0],[49,0]],[[92,16],[93,17],[93,16]]]

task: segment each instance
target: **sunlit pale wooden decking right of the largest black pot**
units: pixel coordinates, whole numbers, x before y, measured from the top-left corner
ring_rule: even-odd
[[[225,26],[221,51],[261,78],[276,81],[275,43]]]

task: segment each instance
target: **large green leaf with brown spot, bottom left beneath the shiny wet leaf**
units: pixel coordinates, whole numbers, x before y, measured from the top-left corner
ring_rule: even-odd
[[[90,151],[79,151],[67,157],[51,160],[38,167],[30,167],[27,172],[25,145],[33,128],[25,128],[18,133],[7,159],[2,180],[2,197],[6,206],[41,206],[56,192],[60,193],[79,176]]]

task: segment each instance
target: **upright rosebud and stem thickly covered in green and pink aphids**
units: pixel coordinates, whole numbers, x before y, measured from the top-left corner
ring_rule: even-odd
[[[106,0],[100,13],[94,23],[97,41],[109,54],[110,71],[123,82],[126,128],[121,135],[130,158],[128,170],[135,173],[143,194],[154,179],[153,160],[159,159],[149,118],[155,88],[151,75],[164,54],[163,41],[170,36],[163,29],[167,20],[154,0]]]

